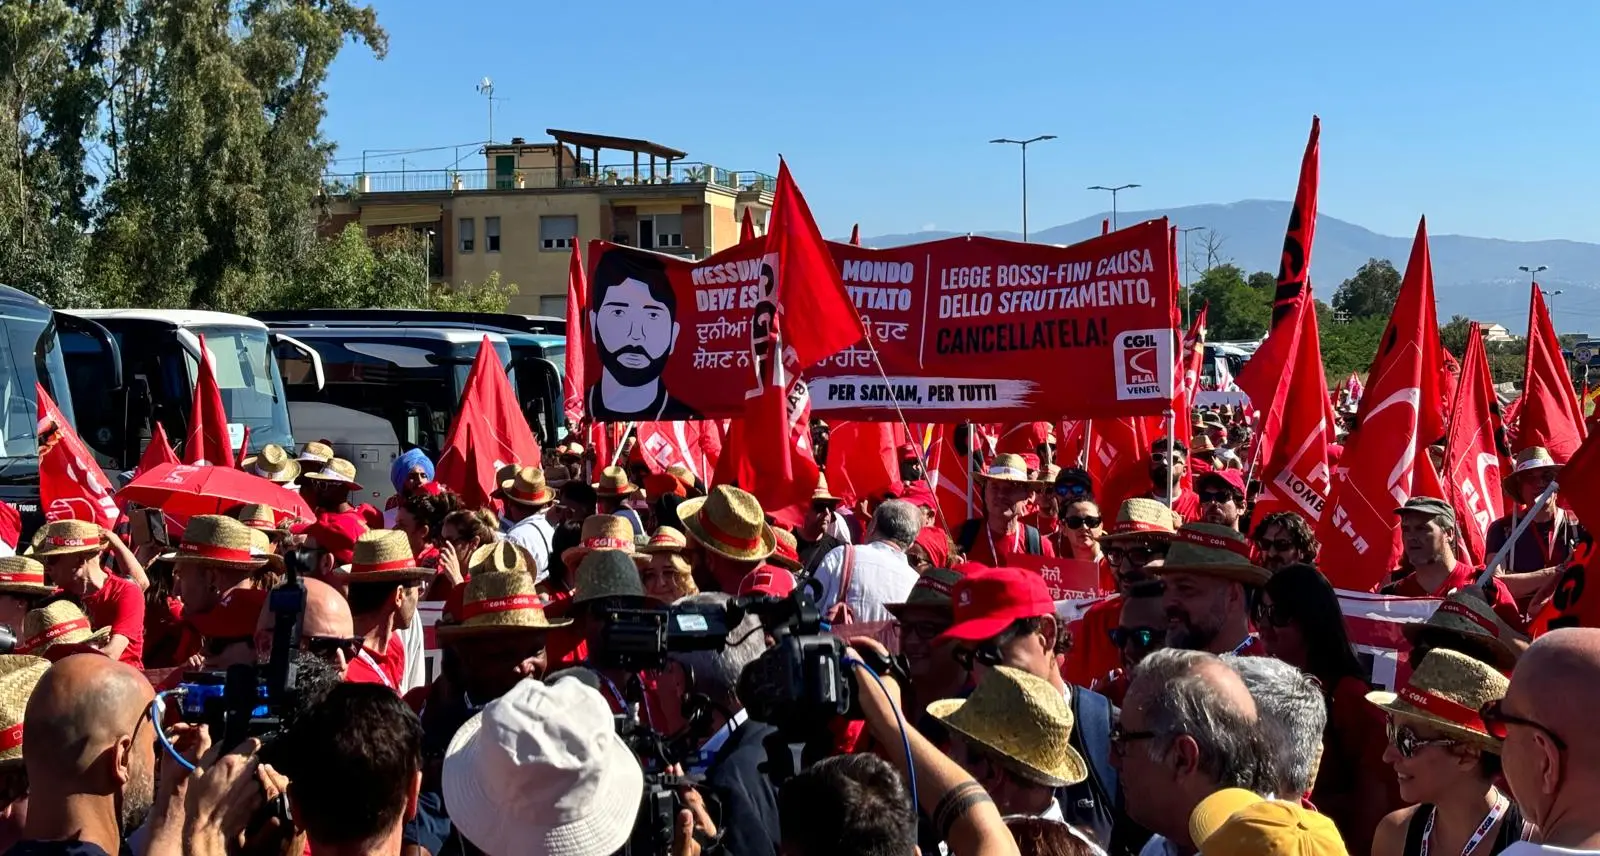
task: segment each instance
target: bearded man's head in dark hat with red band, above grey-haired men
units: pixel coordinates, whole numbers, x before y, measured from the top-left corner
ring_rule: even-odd
[[[1166,584],[1166,645],[1213,654],[1266,656],[1250,634],[1250,590],[1272,574],[1250,562],[1238,530],[1186,523],[1152,568]]]

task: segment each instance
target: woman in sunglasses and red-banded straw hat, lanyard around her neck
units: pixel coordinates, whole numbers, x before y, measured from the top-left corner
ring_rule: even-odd
[[[1397,693],[1368,693],[1389,715],[1384,760],[1411,803],[1378,824],[1373,856],[1493,856],[1522,840],[1522,813],[1494,786],[1501,738],[1478,714],[1509,685],[1486,662],[1434,651]]]

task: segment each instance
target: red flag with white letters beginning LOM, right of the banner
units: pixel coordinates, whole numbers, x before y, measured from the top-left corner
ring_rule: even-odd
[[[1294,307],[1298,354],[1291,355],[1294,376],[1285,384],[1288,402],[1280,408],[1282,421],[1272,456],[1261,467],[1261,499],[1253,517],[1261,520],[1277,510],[1298,512],[1317,523],[1328,501],[1328,429],[1333,410],[1328,403],[1328,378],[1322,371],[1322,336],[1317,330],[1317,307],[1306,288],[1306,299]]]

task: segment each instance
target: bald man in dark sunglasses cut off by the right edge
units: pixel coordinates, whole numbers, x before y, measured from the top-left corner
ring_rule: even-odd
[[[1506,726],[1501,762],[1544,846],[1517,842],[1506,856],[1600,853],[1597,709],[1600,629],[1550,630],[1517,661],[1498,717]]]

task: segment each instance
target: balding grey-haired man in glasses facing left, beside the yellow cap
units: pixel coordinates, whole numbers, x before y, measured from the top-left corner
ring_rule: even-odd
[[[1133,669],[1112,736],[1128,816],[1155,834],[1144,856],[1194,853],[1189,814],[1224,787],[1270,794],[1250,690],[1221,658],[1166,648]]]

